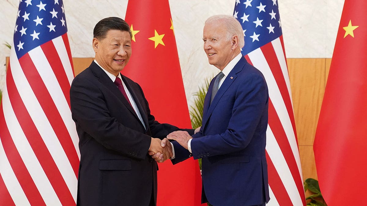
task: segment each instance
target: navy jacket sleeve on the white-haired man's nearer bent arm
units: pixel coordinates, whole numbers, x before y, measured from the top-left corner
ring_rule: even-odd
[[[250,143],[264,110],[268,109],[268,88],[259,74],[247,75],[241,82],[224,133],[208,136],[197,133],[193,136],[196,138],[191,141],[191,149],[195,159],[202,152],[214,156],[240,151]]]

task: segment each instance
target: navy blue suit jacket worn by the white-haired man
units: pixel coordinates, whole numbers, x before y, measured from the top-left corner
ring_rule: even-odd
[[[202,201],[212,205],[259,205],[269,201],[265,158],[268,87],[264,76],[242,57],[210,104],[215,78],[204,101],[192,154],[173,142],[178,163],[202,158]]]

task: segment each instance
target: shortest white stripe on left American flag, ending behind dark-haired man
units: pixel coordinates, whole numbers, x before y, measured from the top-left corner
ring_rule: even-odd
[[[52,43],[54,43],[57,53],[59,54],[59,58],[61,60],[62,66],[65,69],[66,76],[69,80],[69,85],[71,85],[71,82],[74,79],[73,69],[70,63],[70,59],[68,56],[68,52],[66,51],[66,47],[64,44],[64,41],[62,39],[62,36],[56,37],[52,40]]]

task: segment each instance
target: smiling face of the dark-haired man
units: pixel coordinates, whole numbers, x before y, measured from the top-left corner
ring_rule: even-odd
[[[93,38],[95,60],[109,73],[117,76],[124,69],[131,56],[130,33],[109,30],[105,38]]]

